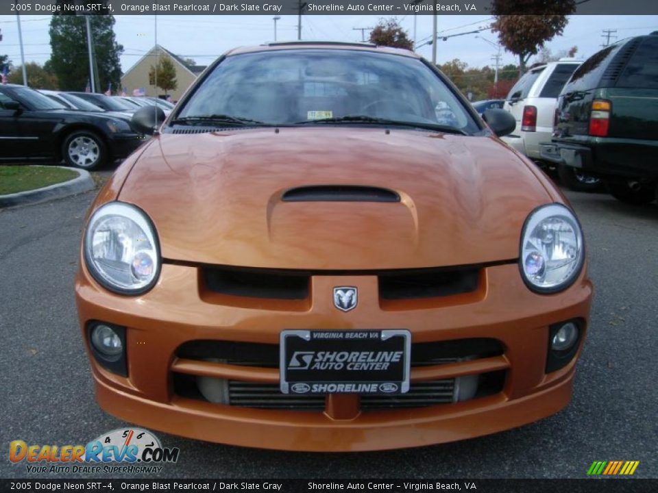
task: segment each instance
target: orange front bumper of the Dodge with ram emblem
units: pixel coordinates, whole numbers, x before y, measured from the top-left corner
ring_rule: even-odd
[[[560,294],[542,296],[524,285],[517,264],[482,269],[474,292],[437,299],[382,301],[376,276],[311,278],[309,299],[276,305],[209,293],[199,268],[164,264],[151,292],[110,294],[84,265],[76,301],[90,355],[99,405],[110,414],[156,430],[241,446],[300,451],[365,451],[452,442],[518,427],[555,414],[572,394],[582,350],[592,285],[581,277]],[[356,286],[358,307],[343,313],[334,286]],[[578,353],[546,374],[549,326],[583,320]],[[127,327],[128,377],[108,372],[91,356],[90,320]],[[332,394],[320,411],[255,409],[191,399],[175,392],[173,375],[276,383],[278,369],[191,362],[177,355],[198,340],[278,344],[284,329],[409,329],[415,343],[494,338],[502,354],[440,366],[412,368],[418,381],[504,371],[495,394],[407,409],[364,410],[358,396]]]

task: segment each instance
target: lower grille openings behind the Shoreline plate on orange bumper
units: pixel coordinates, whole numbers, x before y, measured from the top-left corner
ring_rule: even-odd
[[[411,367],[439,366],[472,359],[502,355],[500,342],[489,338],[462,339],[440,342],[418,342],[411,345]],[[199,340],[183,344],[178,357],[200,362],[221,362],[231,366],[278,368],[279,346],[250,342],[226,342]],[[483,372],[478,375],[476,388],[470,398],[491,395],[502,390],[505,371]],[[360,407],[363,411],[378,409],[412,409],[457,400],[460,384],[473,384],[474,377],[456,377],[431,381],[411,382],[409,392],[401,395],[362,395]],[[242,381],[235,379],[213,379],[202,377],[204,383],[225,389],[221,403],[236,407],[258,409],[282,409],[318,411],[325,409],[324,395],[282,394],[278,383]],[[179,372],[173,373],[174,392],[190,399],[207,401],[200,390],[199,377]],[[212,399],[210,399],[212,401]],[[218,402],[218,401],[215,401]]]

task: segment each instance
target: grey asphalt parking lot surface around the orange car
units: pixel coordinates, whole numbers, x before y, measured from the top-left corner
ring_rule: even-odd
[[[565,411],[485,438],[378,453],[282,453],[157,433],[180,447],[160,477],[583,478],[594,460],[639,460],[634,477],[658,478],[658,206],[565,193],[583,224],[596,289]],[[0,210],[0,477],[27,476],[24,462],[8,460],[12,440],[86,444],[125,426],[94,401],[73,299],[94,195]],[[31,477],[39,476],[52,477]]]

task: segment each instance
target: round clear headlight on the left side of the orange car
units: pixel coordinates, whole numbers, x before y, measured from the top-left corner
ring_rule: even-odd
[[[99,207],[84,233],[84,260],[94,279],[108,290],[146,292],[160,275],[160,248],[151,220],[127,203]]]

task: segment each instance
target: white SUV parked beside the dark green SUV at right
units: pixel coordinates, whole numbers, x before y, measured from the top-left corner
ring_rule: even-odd
[[[559,62],[535,66],[507,94],[504,109],[514,115],[516,128],[503,140],[541,167],[546,167],[547,162],[541,157],[539,144],[550,140],[557,97],[580,64],[581,60],[561,58]],[[600,187],[596,177],[574,173],[561,164],[555,166],[561,181],[574,190],[596,190]]]

